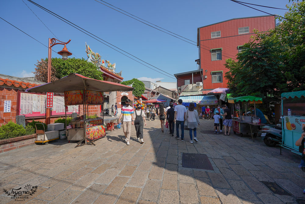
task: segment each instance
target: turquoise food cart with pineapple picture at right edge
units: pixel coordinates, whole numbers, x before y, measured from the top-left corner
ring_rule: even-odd
[[[305,128],[305,91],[282,93],[282,144],[296,154],[299,147],[296,140],[301,137]],[[291,112],[288,113],[288,109]]]

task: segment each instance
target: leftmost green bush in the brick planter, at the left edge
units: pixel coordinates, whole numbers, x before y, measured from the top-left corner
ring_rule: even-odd
[[[0,127],[0,139],[7,139],[25,135],[26,131],[22,125],[9,121],[8,124]]]

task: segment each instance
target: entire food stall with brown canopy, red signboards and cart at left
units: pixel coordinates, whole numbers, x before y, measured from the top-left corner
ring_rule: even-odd
[[[81,140],[79,143],[77,143],[76,147],[78,147],[83,141],[85,141],[85,144],[91,143],[94,145],[93,141],[95,139],[99,139],[106,134],[105,126],[103,126],[104,121],[102,118],[96,118],[93,120],[87,119],[88,105],[102,104],[102,92],[132,91],[133,89],[133,87],[125,86],[123,84],[95,80],[80,74],[70,73],[68,76],[65,76],[59,80],[29,88],[26,91],[38,93],[64,93],[66,109],[68,105],[83,105],[84,115],[77,121],[78,125],[77,122],[72,122],[72,125],[74,125],[72,129],[74,130],[71,130],[70,133],[73,135],[75,140]]]

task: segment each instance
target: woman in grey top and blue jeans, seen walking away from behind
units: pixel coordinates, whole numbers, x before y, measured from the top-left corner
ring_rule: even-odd
[[[193,136],[192,136],[192,131],[194,131],[194,140],[195,142],[198,142],[197,139],[197,125],[200,124],[199,121],[199,116],[198,116],[198,112],[195,109],[195,104],[194,103],[190,103],[190,106],[188,108],[188,110],[185,113],[185,120],[188,121],[188,129],[190,132],[190,143],[193,143]]]

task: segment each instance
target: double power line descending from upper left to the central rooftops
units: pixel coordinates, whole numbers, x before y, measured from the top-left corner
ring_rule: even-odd
[[[121,51],[123,51],[123,52],[125,52],[125,53],[127,53],[127,54],[129,54],[129,55],[131,55],[132,57],[135,57],[135,58],[137,58],[138,60],[140,60],[140,61],[142,61],[142,62],[144,62],[144,63],[146,63],[146,64],[148,64],[148,65],[150,65],[150,66],[152,66],[152,67],[154,67],[154,68],[156,68],[156,69],[159,69],[159,68],[157,68],[157,67],[155,67],[155,66],[153,66],[153,65],[151,65],[151,64],[149,64],[149,63],[147,63],[147,62],[145,62],[145,61],[143,61],[143,60],[141,60],[140,58],[138,58],[138,57],[136,57],[136,56],[134,56],[134,55],[132,55],[132,54],[130,54],[130,53],[128,53],[128,52],[122,50],[122,49],[120,49],[119,47],[117,47],[117,46],[115,46],[115,45],[113,45],[113,44],[111,44],[111,43],[108,43],[107,41],[105,41],[105,40],[99,38],[98,36],[92,34],[91,32],[88,32],[88,31],[85,30],[84,28],[81,28],[81,27],[77,26],[76,24],[70,22],[69,20],[66,20],[65,18],[63,18],[63,17],[59,16],[58,14],[56,14],[56,13],[54,13],[54,12],[52,12],[52,11],[46,9],[45,7],[39,5],[39,4],[37,4],[37,3],[35,3],[35,2],[33,2],[33,1],[31,1],[31,0],[27,0],[27,1],[31,2],[32,4],[34,4],[34,5],[37,6],[37,7],[39,7],[39,8],[41,8],[41,9],[45,10],[46,12],[48,12],[48,13],[50,13],[51,15],[55,16],[56,18],[62,20],[62,21],[65,22],[66,24],[71,25],[72,27],[74,27],[74,28],[76,28],[77,30],[83,32],[84,34],[86,34],[86,35],[88,35],[88,36],[90,36],[90,37],[92,37],[91,35],[93,35],[93,36],[95,36],[96,38],[98,38],[98,39],[104,41],[105,43],[103,43],[102,41],[96,39],[95,37],[92,37],[92,38],[96,39],[97,41],[99,41],[100,43],[102,43],[102,44],[104,44],[104,45],[110,47],[111,49],[116,50],[116,49],[114,49],[113,47],[111,47],[111,46],[114,46],[114,47],[116,47],[117,49],[119,49],[119,50],[121,50]],[[67,22],[66,22],[66,21],[67,21]],[[68,22],[69,22],[69,23],[68,23]],[[87,32],[87,33],[86,33],[86,32]],[[91,35],[89,35],[88,33],[91,34]],[[111,46],[107,45],[106,43],[108,43],[108,44],[111,45]],[[119,50],[116,50],[116,51],[119,52],[119,53],[121,53],[121,54],[123,54],[123,55],[125,55],[126,57],[128,57],[128,58],[130,58],[130,59],[132,59],[132,60],[134,60],[134,61],[137,61],[137,60],[135,60],[134,58],[132,58],[132,57],[130,57],[130,56],[128,56],[128,55],[126,55],[126,54],[120,52]],[[139,61],[137,61],[137,62],[139,62]],[[139,62],[139,63],[142,64],[142,65],[144,65],[144,64],[141,63],[141,62]],[[148,67],[149,69],[152,69],[151,67],[149,67],[149,66],[147,66],[147,65],[144,65],[144,66]],[[157,71],[157,70],[155,70],[155,69],[152,69],[152,70],[154,70],[154,71],[156,71],[156,72],[159,72],[159,71]],[[165,71],[163,71],[162,69],[159,69],[159,70],[162,71],[162,72],[165,72]],[[162,72],[159,72],[159,73],[163,74]],[[171,76],[174,76],[174,75],[172,75],[172,74],[170,74],[170,73],[168,73],[168,72],[165,72],[165,73],[167,73],[167,74],[169,74],[169,75],[171,75]],[[168,75],[166,75],[166,74],[163,74],[163,75],[168,76]],[[177,79],[177,78],[174,78],[174,77],[171,77],[171,76],[168,76],[168,77],[173,78],[173,79]],[[181,81],[184,81],[184,80],[181,80]]]

